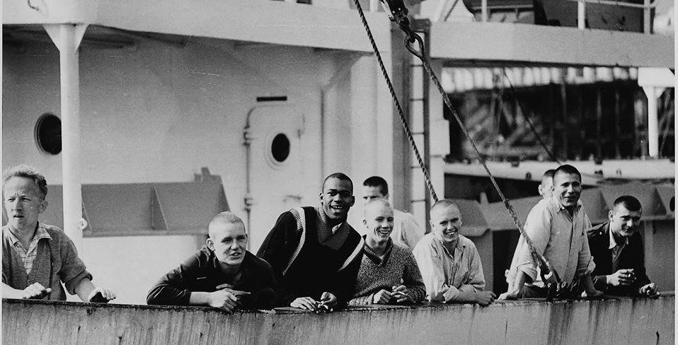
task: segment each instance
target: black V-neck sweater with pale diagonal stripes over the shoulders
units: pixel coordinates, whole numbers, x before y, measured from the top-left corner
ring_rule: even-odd
[[[304,231],[292,211],[287,211],[277,219],[257,253],[270,262],[275,272],[278,298],[275,305],[289,307],[289,303],[299,297],[320,300],[323,292],[329,292],[337,297],[337,307],[343,308],[355,291],[362,262],[362,237],[346,224],[347,238],[334,250],[318,241],[316,209],[304,207],[304,215],[306,232],[301,246]]]

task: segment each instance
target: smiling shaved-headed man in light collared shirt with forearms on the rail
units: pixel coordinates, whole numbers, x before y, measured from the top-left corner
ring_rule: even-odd
[[[485,288],[483,265],[476,245],[463,235],[459,206],[439,200],[431,206],[431,228],[414,249],[427,298],[444,303],[489,305],[496,298]]]

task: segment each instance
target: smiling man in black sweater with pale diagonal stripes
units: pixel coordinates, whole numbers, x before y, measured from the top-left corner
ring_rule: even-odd
[[[364,240],[346,217],[355,204],[353,182],[326,177],[320,206],[284,212],[259,248],[277,281],[277,306],[331,310],[353,296]]]

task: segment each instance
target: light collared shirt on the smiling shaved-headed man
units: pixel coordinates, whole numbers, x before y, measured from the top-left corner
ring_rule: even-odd
[[[426,285],[428,300],[450,302],[460,293],[483,291],[485,276],[476,245],[459,235],[454,253],[434,233],[425,235],[413,251]]]

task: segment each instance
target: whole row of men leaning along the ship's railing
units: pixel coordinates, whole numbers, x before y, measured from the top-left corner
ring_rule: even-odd
[[[609,221],[592,227],[582,209],[580,172],[571,165],[549,170],[539,185],[544,197],[530,211],[506,272],[500,299],[543,298],[553,274],[541,274],[535,252],[558,273],[568,296],[659,295],[645,274],[638,233],[642,206],[621,196]],[[364,235],[347,223],[355,204],[352,180],[334,173],[323,182],[318,206],[285,211],[257,255],[246,250],[248,234],[231,212],[214,216],[205,245],[164,275],[147,296],[153,305],[236,308],[299,308],[328,312],[346,305],[442,303],[489,305],[476,246],[459,232],[454,201],[431,206],[431,233],[411,214],[394,210],[381,177],[362,186]],[[2,228],[2,297],[65,300],[62,283],[86,302],[108,302],[115,293],[93,285],[73,242],[39,221],[47,207],[47,182],[34,168],[4,172],[8,223]]]

